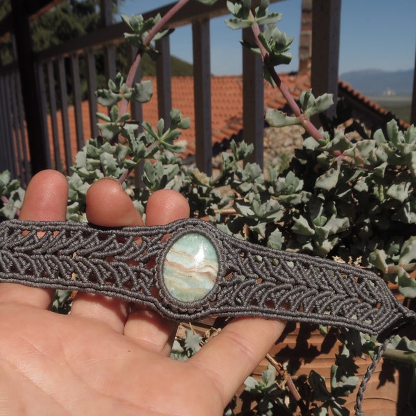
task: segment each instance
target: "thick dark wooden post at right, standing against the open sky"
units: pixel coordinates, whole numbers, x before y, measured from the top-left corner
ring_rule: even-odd
[[[333,94],[338,100],[338,62],[340,55],[341,0],[313,0],[312,4],[312,64],[313,95]],[[335,115],[336,105],[327,110]]]

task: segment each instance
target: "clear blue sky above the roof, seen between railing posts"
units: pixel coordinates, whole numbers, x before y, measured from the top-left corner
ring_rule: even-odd
[[[125,0],[121,12],[138,14],[164,6],[166,0]],[[269,10],[283,13],[277,24],[295,40],[291,64],[279,71],[296,71],[298,66],[301,0],[284,0]],[[211,20],[211,73],[241,73],[241,31],[232,31],[224,17]],[[396,71],[415,66],[416,0],[343,0],[341,6],[339,72],[358,69]],[[177,28],[171,34],[171,53],[192,62],[191,28]]]

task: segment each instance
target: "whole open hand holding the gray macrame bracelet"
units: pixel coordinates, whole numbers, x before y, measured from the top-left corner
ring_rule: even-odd
[[[65,220],[67,180],[42,171],[28,185],[20,218]],[[174,191],[148,200],[146,225],[189,216]],[[142,225],[118,182],[87,193],[96,225]],[[284,323],[239,318],[189,361],[169,358],[176,326],[154,311],[78,293],[69,315],[49,311],[53,293],[0,284],[1,415],[223,415]]]

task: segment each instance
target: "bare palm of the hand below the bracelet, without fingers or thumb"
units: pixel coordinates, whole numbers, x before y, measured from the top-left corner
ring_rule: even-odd
[[[224,407],[198,366],[88,318],[3,304],[0,339],[6,415],[220,415]]]

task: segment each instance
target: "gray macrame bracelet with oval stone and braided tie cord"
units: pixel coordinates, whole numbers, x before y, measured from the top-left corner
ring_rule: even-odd
[[[380,334],[416,316],[369,270],[248,243],[197,219],[111,229],[5,221],[0,281],[119,297],[182,322],[261,316]]]

